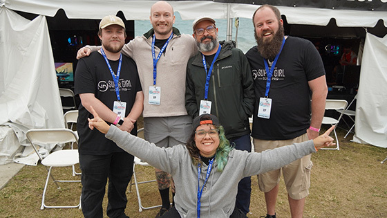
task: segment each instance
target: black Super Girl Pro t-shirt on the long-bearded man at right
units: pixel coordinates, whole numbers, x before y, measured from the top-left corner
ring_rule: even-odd
[[[256,46],[246,53],[246,57],[252,69],[256,96],[252,137],[286,140],[305,134],[310,126],[308,82],[325,75],[317,49],[306,39],[287,37],[272,75],[270,119],[257,116],[259,98],[265,97],[267,82],[263,57]]]

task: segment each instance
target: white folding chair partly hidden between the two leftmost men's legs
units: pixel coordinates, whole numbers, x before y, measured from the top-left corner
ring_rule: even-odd
[[[144,138],[144,128],[138,129],[137,131],[138,137]],[[135,191],[137,192],[137,199],[138,199],[138,211],[142,212],[142,210],[148,210],[152,208],[159,208],[161,205],[158,206],[149,206],[149,207],[144,207],[142,205],[141,197],[140,197],[140,189],[138,188],[138,185],[143,184],[143,183],[151,183],[155,182],[156,180],[148,180],[148,181],[137,181],[137,177],[135,176],[135,169],[136,165],[142,165],[142,166],[150,166],[147,162],[140,160],[137,156],[134,157],[134,164],[133,164],[133,177],[131,180],[131,184],[129,185],[129,192],[131,192],[131,187],[133,185],[133,180],[134,180],[134,185],[135,185]]]

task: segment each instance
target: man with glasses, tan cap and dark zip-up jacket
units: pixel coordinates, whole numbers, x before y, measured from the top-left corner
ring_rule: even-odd
[[[236,149],[251,152],[249,117],[254,109],[254,87],[250,66],[234,42],[219,42],[211,17],[193,21],[193,37],[200,53],[187,64],[185,107],[192,118],[216,115],[226,137]],[[211,133],[209,133],[211,134]],[[236,207],[249,212],[251,180],[238,184]]]

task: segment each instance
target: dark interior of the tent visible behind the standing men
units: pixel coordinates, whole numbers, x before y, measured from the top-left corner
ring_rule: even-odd
[[[37,15],[18,12],[27,19],[34,19]],[[126,21],[122,12],[117,16],[124,20],[126,25],[126,42],[134,37],[134,21]],[[70,63],[69,71],[75,72],[77,60],[75,58],[79,48],[85,45],[100,45],[97,37],[99,19],[68,19],[64,10],[60,9],[54,17],[46,17],[50,33],[53,55],[57,64]],[[285,35],[309,39],[319,51],[329,87],[328,98],[352,100],[359,87],[361,66],[341,66],[339,60],[343,55],[343,48],[350,47],[357,55],[363,48],[366,33],[377,37],[384,37],[387,28],[380,19],[373,28],[363,27],[338,27],[334,18],[330,19],[327,26],[313,26],[288,24],[284,21]],[[67,80],[62,72],[57,71],[58,85],[62,88],[73,89],[73,80]],[[78,102],[79,103],[79,102]]]

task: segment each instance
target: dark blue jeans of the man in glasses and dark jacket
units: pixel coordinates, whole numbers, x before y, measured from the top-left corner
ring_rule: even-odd
[[[252,143],[250,135],[229,138],[230,143],[235,143],[235,149],[252,152]],[[245,177],[238,183],[238,194],[236,194],[236,208],[242,210],[245,214],[249,212],[250,195],[252,194],[252,179]]]

